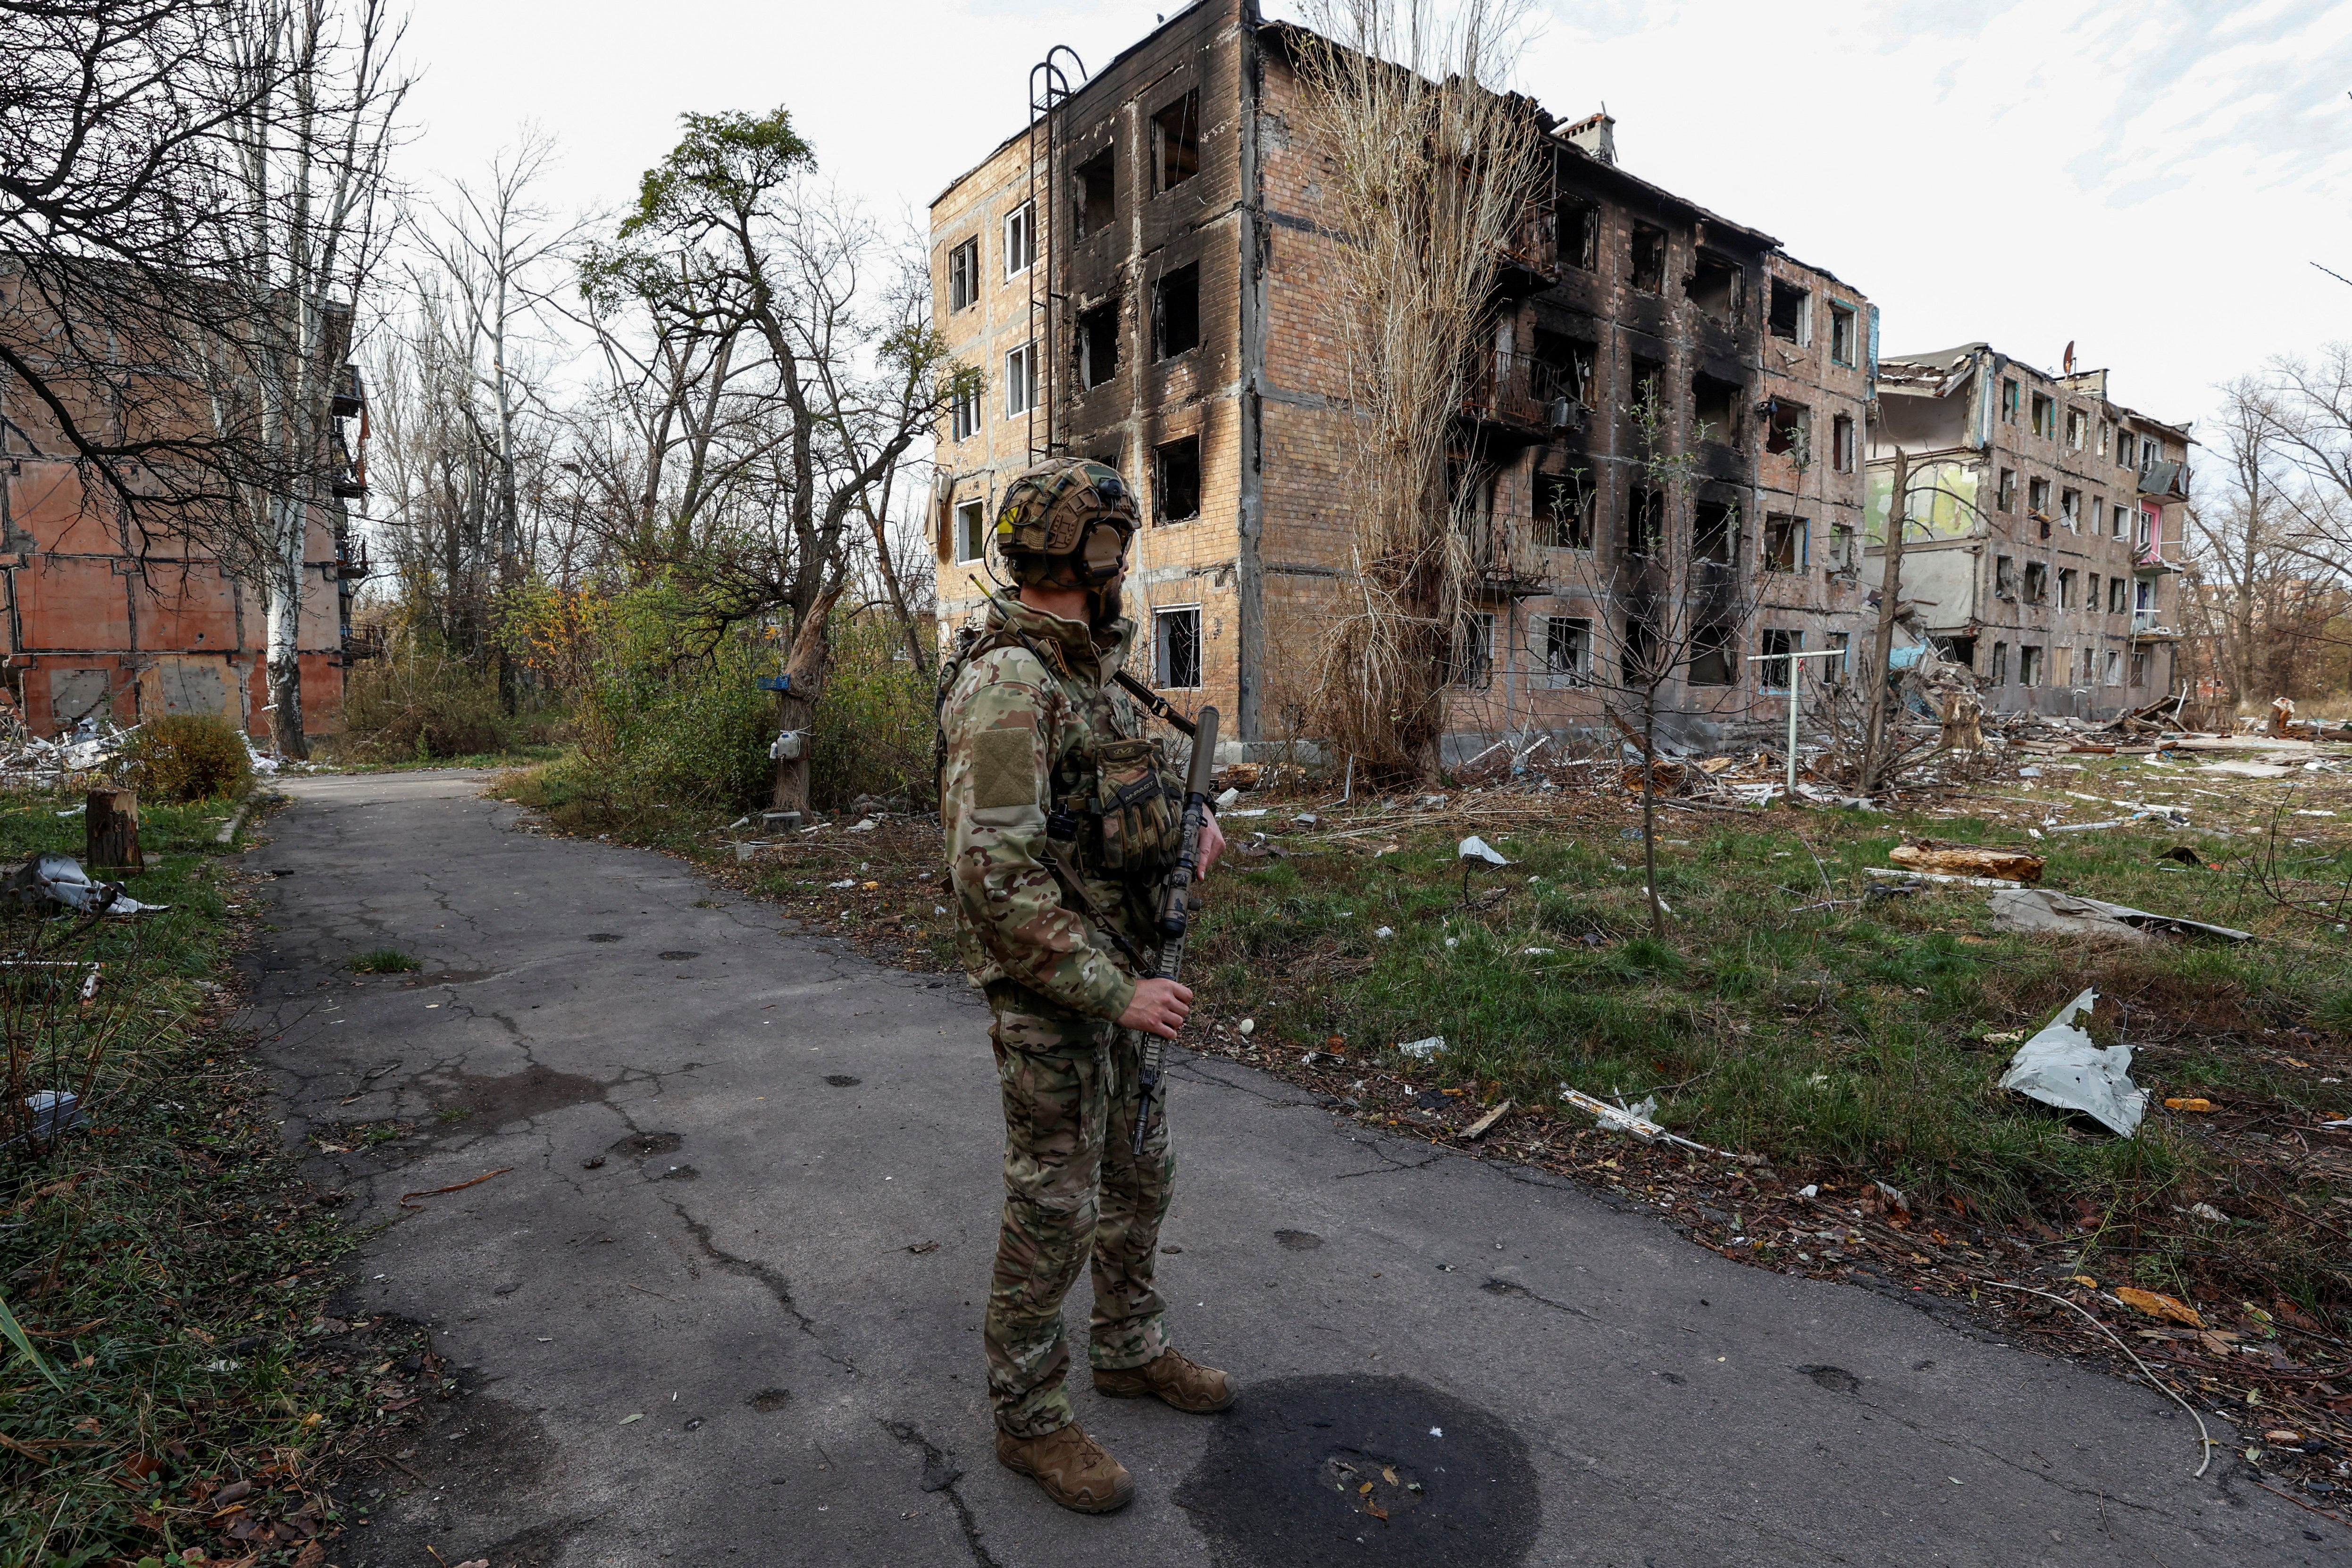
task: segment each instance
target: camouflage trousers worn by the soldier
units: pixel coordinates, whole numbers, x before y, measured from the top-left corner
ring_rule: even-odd
[[[1143,1034],[995,1004],[988,1030],[1004,1088],[1004,1229],[988,1286],[988,1399],[1014,1436],[1068,1427],[1061,1300],[1094,1260],[1087,1361],[1112,1371],[1167,1349],[1152,1291],[1169,1211],[1167,1079],[1134,1152]]]

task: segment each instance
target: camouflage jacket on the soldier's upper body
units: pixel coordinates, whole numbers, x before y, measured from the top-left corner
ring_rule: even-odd
[[[997,637],[1014,630],[1028,646]],[[1143,719],[1112,686],[1136,623],[1117,621],[1108,644],[1077,623],[990,597],[988,632],[941,701],[938,820],[957,903],[957,945],[974,985],[1016,980],[1089,1018],[1117,1018],[1136,994],[1136,957],[1096,929],[1063,889],[1051,856],[1094,898],[1134,952],[1155,959],[1143,875],[1103,865],[1098,839],[1049,837],[1049,813],[1091,780],[1103,745],[1136,750]],[[1037,654],[1047,658],[1040,661]],[[1157,748],[1152,748],[1152,762]],[[1164,766],[1164,764],[1160,764]]]

